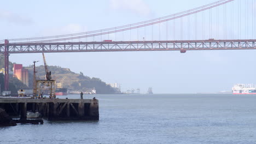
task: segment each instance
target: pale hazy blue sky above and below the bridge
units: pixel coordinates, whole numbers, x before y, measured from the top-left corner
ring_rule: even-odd
[[[0,40],[116,27],[155,19],[212,2],[216,0],[3,1],[0,8]],[[237,13],[240,2],[241,5],[248,2],[251,6],[244,9],[242,7],[241,18],[232,19],[231,13]],[[229,39],[238,39],[239,36],[241,39],[255,39],[256,34],[253,33],[255,3],[254,0],[236,0],[230,4],[232,7],[227,4],[226,25],[230,25],[231,28],[226,29],[222,23],[224,7],[219,8],[221,20],[218,21],[217,16],[214,16],[214,14],[217,15],[217,8],[206,11],[203,18],[205,29],[210,27],[210,19],[207,15],[214,13],[212,14],[212,32],[208,30],[209,28],[203,32],[202,20],[199,20],[197,21],[197,39],[224,39],[224,31],[228,33],[226,38]],[[202,17],[202,13],[197,14],[197,17]],[[237,24],[239,19],[248,20],[247,23],[241,23],[242,29],[247,28],[247,33],[243,31],[242,34],[239,33]],[[194,20],[195,15],[182,19],[183,39],[195,38]],[[231,25],[231,23],[234,24]],[[175,25],[175,38],[181,39],[179,20]],[[139,29],[139,34],[132,32],[131,36],[128,34],[130,32],[126,32],[125,38],[119,34],[117,40],[141,40],[143,37],[146,40],[174,38],[172,21],[153,28],[155,29],[153,32],[152,27]],[[156,30],[159,28],[160,34]],[[202,33],[205,36],[202,37]],[[108,37],[115,39],[113,34],[95,39],[98,41]],[[92,41],[92,39],[81,41],[86,40]],[[139,87],[141,92],[146,92],[148,87],[153,87],[154,93],[218,92],[231,91],[235,83],[256,83],[255,50],[188,51],[185,54],[178,51],[45,53],[45,57],[48,65],[70,68],[76,73],[82,71],[84,75],[99,77],[107,83],[121,83],[122,91]],[[11,62],[24,65],[30,65],[34,60],[39,60],[38,64],[43,64],[42,54],[10,55]]]

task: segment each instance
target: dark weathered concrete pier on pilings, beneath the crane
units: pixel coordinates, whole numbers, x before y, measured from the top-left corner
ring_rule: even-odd
[[[21,120],[27,111],[38,111],[50,121],[99,119],[97,99],[0,99],[0,107]]]

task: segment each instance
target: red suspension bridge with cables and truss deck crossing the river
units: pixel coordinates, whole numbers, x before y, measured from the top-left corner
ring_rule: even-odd
[[[255,0],[221,0],[181,13],[125,26],[49,37],[1,40],[0,53],[3,53],[5,58],[5,90],[9,87],[10,53],[107,51],[184,53],[188,50],[256,49],[255,11]],[[165,40],[162,40],[163,37]]]

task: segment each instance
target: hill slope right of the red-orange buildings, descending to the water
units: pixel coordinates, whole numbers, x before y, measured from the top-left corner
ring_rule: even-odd
[[[28,69],[28,73],[32,80],[33,77],[33,66],[26,67]],[[64,76],[66,76],[65,80],[63,80],[62,85],[65,88],[68,88],[71,91],[87,91],[88,89],[95,88],[97,94],[114,94],[115,90],[106,85],[105,82],[101,81],[95,77],[84,76],[83,73],[76,74],[68,68],[61,68],[57,66],[48,66],[48,70],[51,71],[52,79],[55,79],[56,82],[59,82]],[[44,65],[40,65],[36,68],[37,77],[39,79],[45,79],[45,70]],[[33,83],[33,81],[30,81]]]

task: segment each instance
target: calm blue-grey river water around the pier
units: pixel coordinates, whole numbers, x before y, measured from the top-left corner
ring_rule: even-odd
[[[85,95],[92,97],[100,121],[2,127],[0,143],[256,143],[256,95]]]

